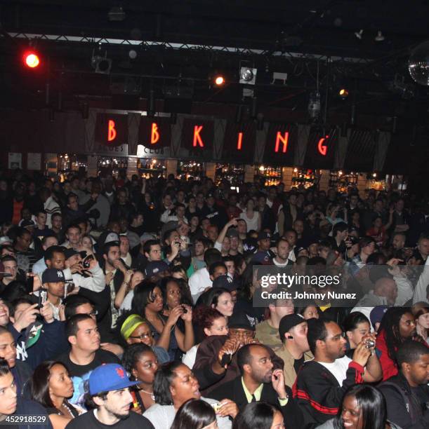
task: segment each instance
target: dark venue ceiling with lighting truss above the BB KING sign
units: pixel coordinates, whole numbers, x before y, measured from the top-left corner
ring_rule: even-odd
[[[428,118],[428,87],[407,69],[428,16],[428,0],[3,0],[0,108],[145,109],[152,91],[160,111],[173,97],[192,113],[242,104],[302,121],[318,88],[325,121],[369,115],[411,129]],[[37,71],[23,67],[29,48]],[[111,60],[107,73],[94,57]],[[255,85],[239,83],[240,67],[257,69]]]

